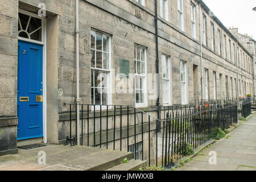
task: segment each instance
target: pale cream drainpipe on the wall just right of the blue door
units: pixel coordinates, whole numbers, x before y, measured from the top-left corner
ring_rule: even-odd
[[[77,145],[80,145],[80,96],[79,96],[79,0],[76,0],[76,107],[77,107]]]

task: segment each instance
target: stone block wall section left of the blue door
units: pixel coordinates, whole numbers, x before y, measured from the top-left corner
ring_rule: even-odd
[[[18,0],[0,1],[0,155],[16,152]]]

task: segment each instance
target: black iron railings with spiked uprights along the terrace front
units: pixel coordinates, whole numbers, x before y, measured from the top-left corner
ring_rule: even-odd
[[[156,108],[133,106],[80,105],[80,144],[134,153],[134,159],[148,166],[171,167],[175,159],[188,154],[188,148],[216,137],[218,129],[237,122],[237,102],[202,102],[189,106]],[[63,124],[64,144],[77,144],[76,104],[69,107]],[[72,143],[72,140],[74,141]]]

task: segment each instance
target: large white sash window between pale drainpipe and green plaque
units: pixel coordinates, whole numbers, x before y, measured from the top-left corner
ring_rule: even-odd
[[[106,81],[104,81],[104,86],[103,87],[102,87],[102,81],[100,81],[100,86],[95,85],[96,84],[95,82],[93,82],[93,85],[91,85],[91,93],[92,93],[92,89],[93,89],[93,94],[94,94],[93,101],[92,101],[92,109],[94,109],[93,105],[96,105],[95,109],[98,110],[98,109],[100,109],[100,105],[103,105],[103,103],[102,103],[103,102],[102,101],[102,94],[103,93],[100,93],[101,94],[101,103],[100,103],[100,105],[97,105],[96,101],[95,101],[95,93],[96,93],[95,90],[96,89],[104,89],[105,92],[107,93],[106,102],[108,102],[108,103],[105,104],[101,109],[106,109],[106,105],[111,105],[112,104],[112,94],[111,94],[112,93],[111,92],[111,90],[112,90],[112,86],[111,86],[112,85],[112,82],[111,82],[111,62],[112,62],[112,60],[111,60],[111,57],[112,57],[111,45],[112,45],[112,37],[109,34],[105,34],[103,32],[93,30],[93,29],[91,30],[91,33],[90,33],[91,36],[92,36],[93,32],[95,34],[95,40],[94,40],[95,41],[95,47],[94,48],[91,47],[90,49],[91,49],[91,54],[92,54],[93,51],[95,51],[94,52],[94,54],[95,54],[95,63],[94,63],[95,67],[91,66],[91,72],[93,71],[93,79],[92,80],[95,79],[94,77],[95,77],[95,72],[96,71],[102,72],[101,73],[102,75],[98,75],[98,77],[100,76],[100,79],[97,78],[97,80],[101,80],[102,78],[104,78],[106,80]],[[102,50],[98,50],[96,48],[96,35],[97,34],[102,36]],[[104,36],[108,37],[108,46],[109,46],[108,51],[104,51],[104,49],[103,49],[103,38],[104,38]],[[91,40],[91,42],[92,42],[92,40]],[[96,62],[97,62],[97,52],[102,53],[102,68],[97,68],[97,66],[96,66],[97,65],[96,64]],[[109,59],[109,63],[108,63],[108,65],[106,65],[108,68],[106,68],[106,69],[104,69],[104,53],[106,55],[108,55],[108,59]],[[92,55],[91,55],[91,57],[92,57]],[[105,72],[105,73],[103,73],[103,72]],[[105,85],[105,84],[107,84],[107,85]]]

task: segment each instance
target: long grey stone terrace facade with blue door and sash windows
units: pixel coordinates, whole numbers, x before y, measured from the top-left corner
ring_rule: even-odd
[[[1,154],[17,140],[64,140],[65,103],[147,109],[255,95],[251,50],[203,1],[78,2],[0,0]]]

